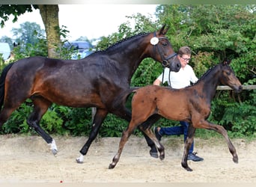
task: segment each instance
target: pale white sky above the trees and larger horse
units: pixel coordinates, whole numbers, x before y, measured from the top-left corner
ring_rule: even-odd
[[[118,31],[118,26],[127,21],[126,16],[141,13],[152,16],[156,4],[59,4],[59,24],[70,31],[69,40],[88,37],[88,40],[108,36]],[[9,19],[4,28],[0,28],[0,37],[13,37],[12,28],[20,28],[23,22],[37,22],[44,29],[39,10],[18,17],[18,22]],[[14,39],[14,38],[13,38]]]

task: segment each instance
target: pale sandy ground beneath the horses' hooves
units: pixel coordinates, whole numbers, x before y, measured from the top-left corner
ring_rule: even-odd
[[[233,139],[239,163],[232,161],[224,139],[195,138],[195,152],[204,162],[189,161],[192,172],[181,165],[183,140],[162,138],[165,159],[149,155],[144,138],[129,138],[118,165],[109,164],[120,138],[97,138],[77,164],[86,137],[54,137],[53,156],[39,136],[0,135],[0,183],[256,183],[256,141]]]

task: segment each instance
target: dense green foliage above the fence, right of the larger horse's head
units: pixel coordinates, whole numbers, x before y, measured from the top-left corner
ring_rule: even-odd
[[[248,82],[256,70],[255,10],[253,4],[160,5],[156,15],[171,25],[174,46],[192,47],[198,75],[229,58],[241,82]]]

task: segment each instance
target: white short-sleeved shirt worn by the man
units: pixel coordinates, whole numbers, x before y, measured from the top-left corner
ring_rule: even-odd
[[[163,79],[164,82],[168,82],[168,85],[170,85],[169,82],[169,68],[165,67],[165,75]],[[162,74],[157,78],[159,81],[162,82]],[[186,67],[180,68],[180,71],[170,73],[170,80],[171,80],[171,88],[185,88],[186,86],[190,85],[190,82],[195,83],[198,81],[198,78],[195,76],[194,70],[192,69],[189,64],[186,64]]]

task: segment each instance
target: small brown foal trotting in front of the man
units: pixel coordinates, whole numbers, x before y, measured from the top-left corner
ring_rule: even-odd
[[[181,165],[187,171],[192,171],[187,164],[187,157],[196,128],[212,129],[222,134],[228,143],[233,161],[237,163],[237,152],[231,140],[228,138],[227,131],[223,126],[207,121],[210,115],[211,101],[216,94],[216,88],[219,84],[228,85],[237,92],[243,89],[229,63],[224,62],[216,65],[208,70],[207,73],[204,73],[195,85],[186,88],[173,89],[149,85],[144,88],[138,88],[135,91],[131,88],[130,91],[124,92],[121,96],[122,98],[126,98],[130,93],[135,92],[134,96],[132,96],[132,119],[127,129],[123,132],[118,153],[114,156],[109,168],[115,168],[115,165],[120,159],[124,144],[128,141],[129,135],[132,134],[137,126],[156,144],[156,148],[160,153],[159,158],[165,158],[164,147],[156,139],[150,126],[140,125],[148,117],[155,114],[169,120],[183,120],[190,123],[181,162]]]

